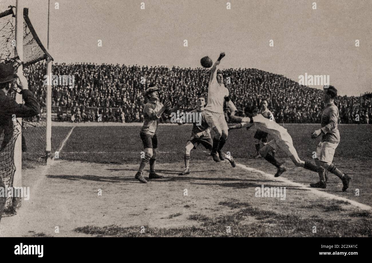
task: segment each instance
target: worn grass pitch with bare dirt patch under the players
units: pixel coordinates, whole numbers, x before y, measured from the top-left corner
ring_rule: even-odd
[[[232,169],[228,162],[214,163],[202,145],[192,151],[192,173],[178,175],[184,166],[190,125],[158,127],[157,168],[166,178],[139,184],[133,176],[143,150],[140,128],[78,126],[61,151],[60,160],[45,175],[28,169],[25,182],[33,185],[36,179],[38,192],[32,203],[25,202],[28,221],[24,235],[372,236],[370,211],[263,178],[259,173]],[[285,128],[300,158],[311,160],[316,142],[310,139],[310,133],[318,125],[288,124]],[[53,134],[67,134],[69,129],[53,127]],[[353,180],[349,191],[341,192],[339,179],[329,175],[324,191],[371,205],[371,126],[340,125],[340,133],[334,163]],[[224,150],[230,151],[238,163],[274,173],[275,167],[263,159],[251,159],[255,154],[252,135],[253,131],[246,129],[231,131]],[[54,138],[55,144],[61,142]],[[318,179],[317,174],[294,167],[289,159],[282,160],[289,168],[283,177],[304,185]],[[286,187],[286,199],[256,197],[255,189],[262,185]],[[60,233],[54,232],[55,226],[60,226]]]

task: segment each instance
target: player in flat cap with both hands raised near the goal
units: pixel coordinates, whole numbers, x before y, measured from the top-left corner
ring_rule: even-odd
[[[166,102],[166,105],[163,105],[163,103],[159,101],[158,90],[159,88],[152,84],[145,92],[145,96],[148,98],[148,103],[145,104],[143,109],[144,123],[140,132],[141,140],[145,148],[145,156],[142,158],[140,168],[134,176],[135,179],[144,184],[147,183],[147,181],[142,176],[142,172],[148,162],[150,162],[150,174],[148,175],[148,178],[164,178],[164,176],[155,173],[155,161],[158,147],[158,139],[155,132],[157,129],[158,120],[164,112],[174,112],[183,104],[183,101],[179,101],[176,107],[169,109],[169,101]]]

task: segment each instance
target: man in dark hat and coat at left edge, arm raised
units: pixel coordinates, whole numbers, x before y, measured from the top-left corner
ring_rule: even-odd
[[[35,95],[28,89],[25,76],[16,75],[12,65],[0,63],[0,134],[4,132],[1,150],[9,143],[13,135],[13,117],[29,118],[40,113],[39,103]],[[25,104],[18,104],[14,98],[7,96],[19,88]]]

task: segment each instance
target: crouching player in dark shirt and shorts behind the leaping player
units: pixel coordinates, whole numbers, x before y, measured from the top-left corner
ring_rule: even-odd
[[[202,144],[207,150],[212,150],[212,138],[210,128],[208,123],[205,120],[205,98],[199,97],[196,101],[197,108],[190,113],[199,113],[199,122],[193,121],[192,133],[190,140],[187,141],[186,144],[186,152],[185,152],[185,169],[181,173],[182,175],[187,175],[190,173],[189,170],[189,163],[190,163],[190,152],[192,149],[196,149],[199,144]],[[182,125],[184,122],[182,120],[178,123]],[[235,167],[235,161],[230,156],[230,154],[224,154],[224,157],[230,162],[232,167]]]

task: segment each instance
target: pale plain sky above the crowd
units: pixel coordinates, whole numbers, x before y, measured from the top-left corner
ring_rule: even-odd
[[[372,91],[371,0],[230,0],[231,10],[227,0],[60,0],[55,10],[57,1],[50,33],[56,62],[195,68],[201,57],[224,51],[223,68],[295,81],[305,72],[330,75],[340,95]],[[48,0],[23,2],[46,46]],[[9,3],[15,0],[0,0],[0,9]]]

